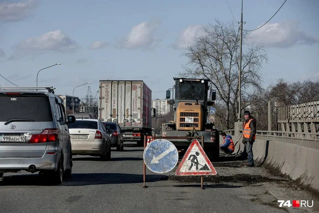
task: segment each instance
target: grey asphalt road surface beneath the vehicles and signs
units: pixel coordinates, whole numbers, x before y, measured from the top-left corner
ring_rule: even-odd
[[[125,144],[111,161],[74,156],[72,177],[48,185],[26,172],[0,178],[0,213],[286,213],[317,212],[318,197],[262,167],[223,157],[216,176],[176,177],[147,170],[143,188],[143,149]],[[277,200],[314,200],[312,208],[280,208]]]

